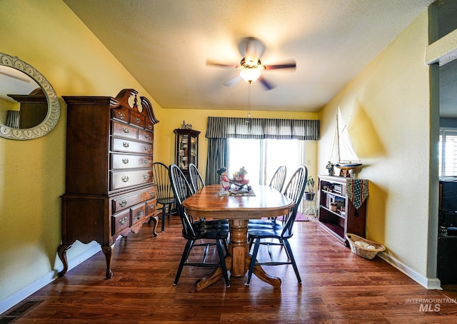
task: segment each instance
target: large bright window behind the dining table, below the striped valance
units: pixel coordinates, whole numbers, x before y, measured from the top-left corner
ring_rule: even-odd
[[[268,185],[276,169],[285,165],[287,184],[288,178],[305,161],[304,141],[229,138],[228,146],[229,176],[244,166],[248,171],[246,178],[249,183]]]

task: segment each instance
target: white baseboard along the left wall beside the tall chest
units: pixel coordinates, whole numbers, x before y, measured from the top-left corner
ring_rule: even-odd
[[[83,253],[76,255],[76,257],[69,260],[69,269],[68,270],[71,270],[72,268],[76,267],[76,265],[79,265],[79,263],[84,262],[85,260],[90,258],[92,255],[98,253],[99,250],[101,250],[100,245],[94,245],[93,247],[89,248],[88,250],[85,250]],[[56,280],[57,273],[59,273],[63,268],[64,268],[64,265],[61,265],[61,266],[55,268],[54,270],[49,271],[49,273],[46,273],[46,275],[41,276],[34,282],[30,283],[29,285],[26,285],[26,287],[22,288],[21,290],[16,291],[16,293],[13,293],[12,295],[9,295],[8,297],[4,298],[3,300],[0,300],[0,314],[5,313],[6,310],[9,310],[10,308],[14,307],[15,305],[21,303],[21,301],[28,298],[29,295],[36,293],[36,291],[40,290],[45,285]]]

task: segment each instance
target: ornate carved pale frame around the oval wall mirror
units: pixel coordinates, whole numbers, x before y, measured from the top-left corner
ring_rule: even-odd
[[[16,140],[28,140],[39,138],[49,133],[56,126],[60,116],[59,98],[51,83],[39,71],[36,71],[33,66],[15,56],[0,53],[0,66],[9,66],[31,77],[41,87],[48,104],[46,117],[41,123],[31,128],[11,128],[0,123],[0,136]]]

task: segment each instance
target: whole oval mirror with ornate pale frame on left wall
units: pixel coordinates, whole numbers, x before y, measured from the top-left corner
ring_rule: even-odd
[[[26,140],[46,135],[59,121],[56,91],[33,66],[0,53],[0,136]]]

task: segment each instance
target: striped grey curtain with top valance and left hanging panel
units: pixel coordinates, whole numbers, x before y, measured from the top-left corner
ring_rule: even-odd
[[[206,183],[220,182],[216,171],[227,166],[227,138],[273,138],[317,141],[319,121],[304,119],[208,117]]]

